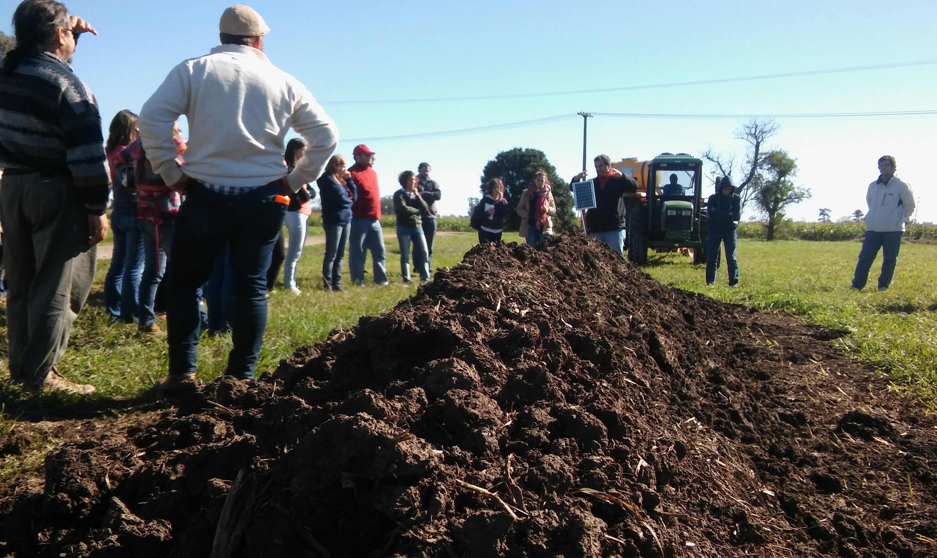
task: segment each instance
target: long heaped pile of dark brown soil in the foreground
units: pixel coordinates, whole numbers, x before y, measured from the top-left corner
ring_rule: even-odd
[[[842,333],[581,236],[484,244],[251,386],[51,454],[0,554],[931,555],[937,424]]]

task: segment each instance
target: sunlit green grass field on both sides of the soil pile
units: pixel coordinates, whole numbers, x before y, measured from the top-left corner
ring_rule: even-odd
[[[505,240],[520,239],[512,233],[505,234]],[[440,235],[434,266],[454,265],[475,242],[474,233]],[[396,242],[389,240],[387,249],[391,286],[350,287],[346,279],[345,292],[329,293],[321,289],[319,280],[323,246],[307,246],[298,270],[303,294],[294,296],[282,289],[271,293],[258,370],[273,369],[280,359],[290,357],[296,346],[319,342],[330,330],[349,328],[360,316],[384,312],[412,294],[416,286],[400,283]],[[849,289],[858,250],[858,242],[742,240],[738,249],[742,279],[735,288],[725,286],[724,268],[719,285],[707,287],[702,266],[672,254],[652,254],[647,272],[665,284],[723,301],[796,313],[826,327],[853,330],[851,336],[837,342],[843,350],[892,374],[896,384],[933,401],[937,385],[937,246],[903,244],[892,288],[881,293],[868,287],[858,293]],[[880,261],[872,268],[873,286]],[[100,396],[127,398],[166,374],[166,341],[141,337],[136,326],[114,324],[106,317],[101,284],[107,266],[107,260],[98,262],[96,286],[76,321],[60,368],[69,377],[94,384]],[[370,261],[365,269],[370,270]],[[346,277],[347,273],[346,258]],[[5,328],[6,323],[0,326]],[[5,340],[6,336],[0,345],[3,352]],[[221,374],[230,348],[230,336],[203,337],[199,377],[210,380]],[[7,382],[2,386],[0,404],[22,402],[22,391],[10,388]]]

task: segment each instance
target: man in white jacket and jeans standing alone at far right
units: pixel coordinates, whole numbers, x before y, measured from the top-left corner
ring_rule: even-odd
[[[855,264],[853,277],[854,290],[866,286],[872,261],[882,249],[882,272],[879,274],[879,290],[886,290],[891,285],[895,274],[895,262],[904,233],[904,222],[915,213],[915,194],[911,186],[895,176],[895,157],[883,155],[879,159],[878,180],[869,184],[866,202],[866,238],[862,241],[859,262]]]

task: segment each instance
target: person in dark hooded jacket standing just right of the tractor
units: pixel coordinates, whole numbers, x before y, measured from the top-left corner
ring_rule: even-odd
[[[723,176],[716,182],[716,193],[706,202],[709,234],[706,237],[706,285],[716,284],[719,271],[719,251],[725,244],[725,261],[729,269],[729,286],[738,284],[738,219],[742,214],[742,199],[736,194],[736,184],[731,176]]]

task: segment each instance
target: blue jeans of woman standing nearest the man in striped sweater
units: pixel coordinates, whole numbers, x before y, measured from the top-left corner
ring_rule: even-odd
[[[104,306],[111,317],[132,323],[140,301],[143,237],[134,213],[112,213],[111,230],[114,245],[111,267],[104,277]]]

